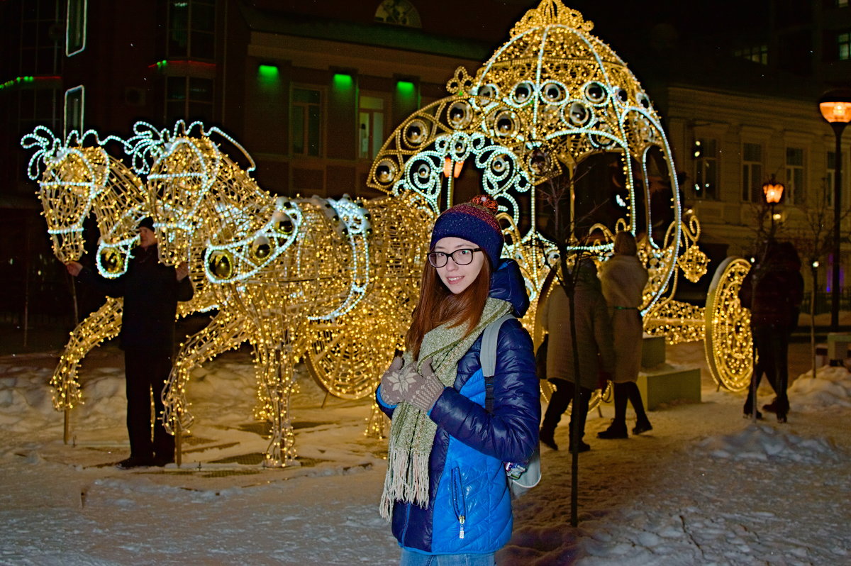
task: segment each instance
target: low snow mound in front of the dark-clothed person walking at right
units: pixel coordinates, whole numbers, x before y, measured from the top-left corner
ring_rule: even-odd
[[[768,425],[750,425],[744,431],[709,437],[696,448],[730,460],[788,460],[815,464],[839,460],[837,449],[824,438],[802,438]]]

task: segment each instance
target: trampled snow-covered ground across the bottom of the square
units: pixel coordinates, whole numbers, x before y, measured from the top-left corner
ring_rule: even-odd
[[[793,352],[805,368],[808,349]],[[397,563],[377,511],[386,441],[363,434],[367,401],[326,399],[300,369],[302,466],[263,469],[248,354],[231,352],[194,374],[183,466],[119,471],[120,353],[87,360],[68,445],[47,385],[55,355],[0,357],[0,563]],[[851,374],[802,374],[789,423],[754,425],[743,394],[716,391],[700,343],[669,346],[668,361],[702,368],[702,402],[655,410],[654,430],[625,440],[597,439],[610,406],[589,415],[576,529],[570,455],[545,449],[500,564],[851,564]],[[567,446],[566,420],[556,440]]]

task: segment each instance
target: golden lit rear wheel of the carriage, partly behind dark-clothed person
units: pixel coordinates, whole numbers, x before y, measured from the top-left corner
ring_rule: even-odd
[[[706,302],[706,361],[712,379],[729,391],[744,391],[753,373],[751,312],[741,306],[739,289],[751,271],[748,260],[728,257],[718,266]]]

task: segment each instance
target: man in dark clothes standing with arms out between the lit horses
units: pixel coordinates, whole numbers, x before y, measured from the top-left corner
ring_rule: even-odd
[[[120,346],[124,351],[127,382],[127,430],[130,456],[117,467],[165,466],[174,461],[174,437],[166,432],[163,386],[168,380],[174,355],[174,319],[178,301],[192,298],[186,262],[164,266],[157,256],[153,220],[139,223],[140,245],[130,252],[125,272],[116,279],[95,275],[77,261],[66,264],[72,276],[111,297],[123,297]],[[151,392],[159,418],[154,422],[151,442]]]

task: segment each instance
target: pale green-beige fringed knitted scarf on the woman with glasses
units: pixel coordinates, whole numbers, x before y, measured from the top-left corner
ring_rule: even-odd
[[[454,386],[458,361],[488,324],[508,312],[511,312],[509,303],[488,297],[482,316],[470,334],[466,333],[466,324],[453,327],[451,323],[445,323],[432,329],[423,336],[420,358],[416,361],[417,371],[421,374],[423,363],[431,357],[431,368],[437,379],[444,386]],[[408,364],[412,361],[411,353],[405,352],[404,362]],[[420,507],[428,506],[428,460],[436,433],[437,424],[426,413],[405,401],[397,405],[390,426],[387,474],[379,507],[381,517],[387,521],[393,516],[393,503],[396,500],[416,503]]]

